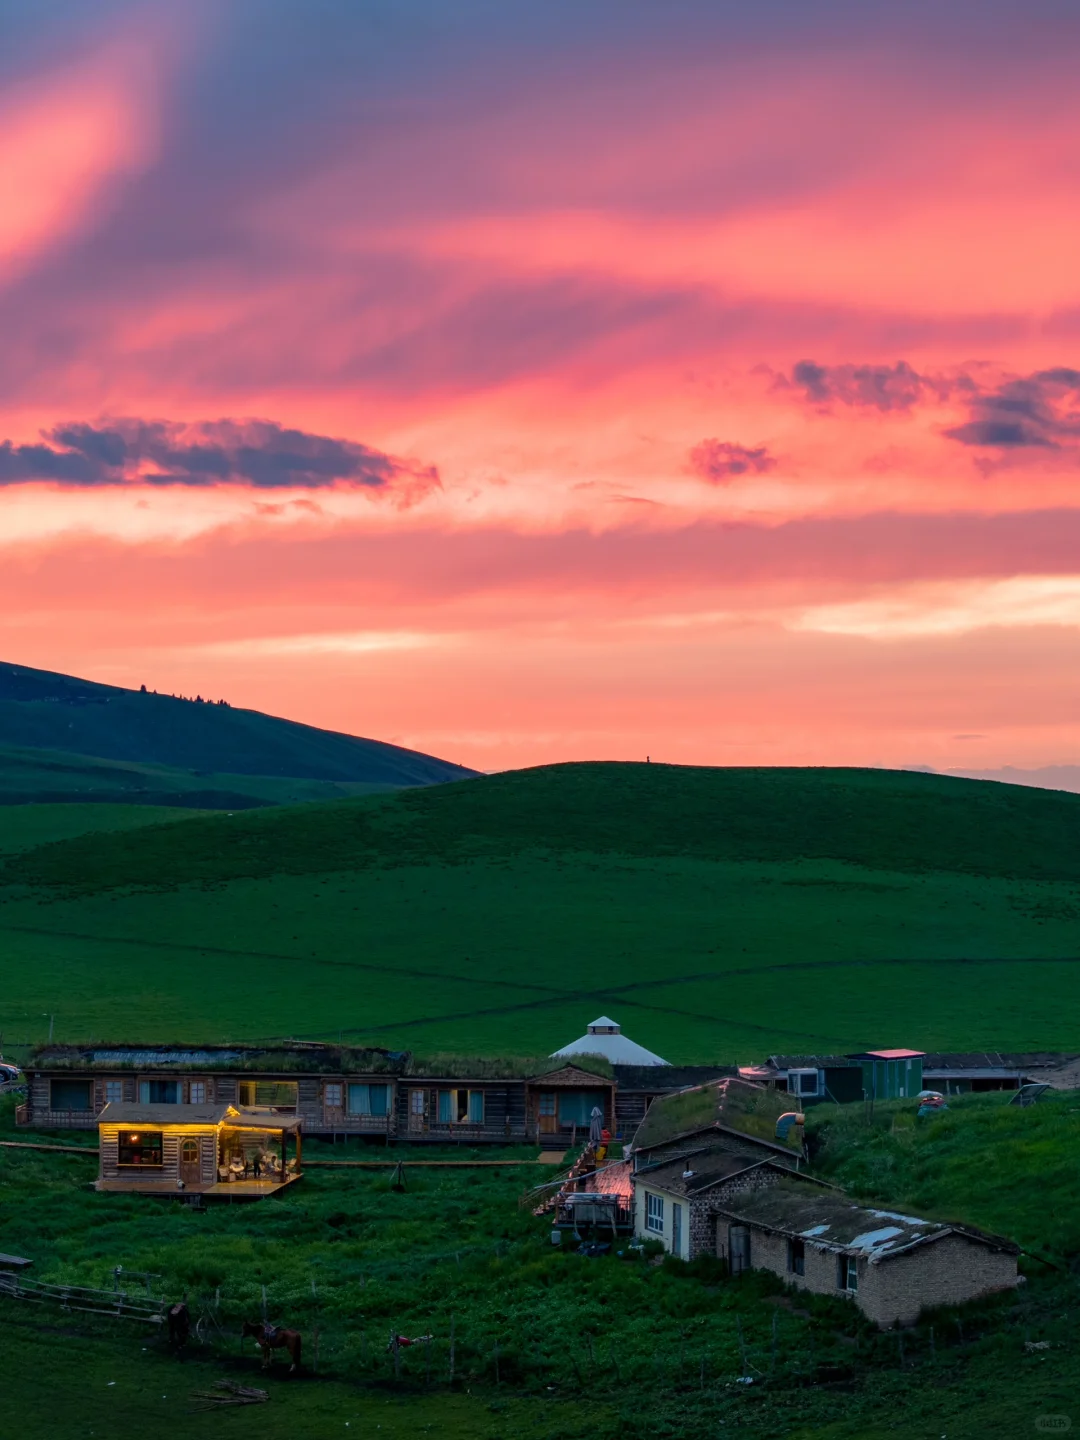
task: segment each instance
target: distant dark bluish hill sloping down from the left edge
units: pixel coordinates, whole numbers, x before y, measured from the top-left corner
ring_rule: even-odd
[[[122,690],[9,664],[0,664],[0,802],[6,792],[14,792],[19,798],[27,792],[32,798],[62,798],[63,792],[78,788],[65,779],[63,765],[71,766],[72,759],[78,757],[84,769],[94,770],[92,762],[85,759],[88,756],[128,766],[150,766],[145,789],[151,795],[156,789],[168,793],[176,789],[171,776],[158,772],[187,772],[189,778],[196,779],[193,786],[189,785],[190,789],[207,793],[220,791],[220,804],[233,808],[229,792],[249,796],[249,804],[278,801],[272,785],[262,789],[259,785],[245,786],[236,782],[238,776],[291,782],[360,782],[386,788],[433,785],[472,773],[400,746],[317,730],[258,710],[236,710],[202,698],[184,700]],[[33,757],[23,756],[27,782],[22,788],[14,773],[17,752],[45,752],[36,762],[40,775],[35,773]],[[62,752],[62,756],[49,769],[53,752]],[[104,766],[102,773],[94,776],[104,789],[132,788],[122,775],[111,775],[108,770]],[[202,785],[197,783],[200,780]],[[333,791],[288,791],[284,798],[311,799],[320,793]]]

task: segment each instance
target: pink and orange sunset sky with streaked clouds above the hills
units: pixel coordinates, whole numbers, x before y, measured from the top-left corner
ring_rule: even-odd
[[[1076,0],[0,0],[0,660],[1080,762]]]

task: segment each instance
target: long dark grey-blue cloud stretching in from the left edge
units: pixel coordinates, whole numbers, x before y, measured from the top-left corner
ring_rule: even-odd
[[[274,420],[118,419],[56,425],[40,444],[0,442],[0,485],[251,485],[320,490],[359,485],[420,491],[439,484],[413,465],[356,441],[291,431]]]

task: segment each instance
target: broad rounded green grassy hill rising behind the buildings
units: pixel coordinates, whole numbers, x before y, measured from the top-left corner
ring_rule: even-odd
[[[0,1028],[671,1061],[1080,1050],[1080,796],[567,765],[24,848]]]

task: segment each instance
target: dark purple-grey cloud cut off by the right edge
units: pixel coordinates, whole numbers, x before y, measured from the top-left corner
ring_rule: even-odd
[[[945,432],[988,449],[1061,449],[1080,442],[1080,370],[1057,366],[1005,380],[971,400],[971,416]]]

